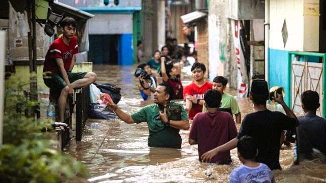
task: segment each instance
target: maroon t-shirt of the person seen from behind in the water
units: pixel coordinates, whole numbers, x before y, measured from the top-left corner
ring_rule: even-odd
[[[190,128],[189,138],[198,142],[199,160],[203,153],[223,145],[237,136],[237,127],[228,112],[201,112],[196,114]],[[230,151],[219,152],[210,162],[229,164]]]

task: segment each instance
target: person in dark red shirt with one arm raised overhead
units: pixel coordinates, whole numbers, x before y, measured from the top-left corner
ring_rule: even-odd
[[[162,56],[161,60],[161,76],[163,81],[171,84],[175,90],[174,97],[172,99],[183,99],[184,86],[181,82],[180,76],[180,64],[173,63],[169,58]]]

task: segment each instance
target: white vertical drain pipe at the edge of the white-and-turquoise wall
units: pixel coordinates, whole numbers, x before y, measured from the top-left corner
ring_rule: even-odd
[[[269,83],[269,0],[265,0],[265,80]]]

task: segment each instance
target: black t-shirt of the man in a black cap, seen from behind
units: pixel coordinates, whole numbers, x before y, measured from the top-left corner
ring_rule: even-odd
[[[237,138],[252,136],[258,149],[255,160],[270,169],[281,169],[278,161],[281,131],[292,129],[295,123],[294,118],[282,112],[268,109],[253,112],[244,117]]]

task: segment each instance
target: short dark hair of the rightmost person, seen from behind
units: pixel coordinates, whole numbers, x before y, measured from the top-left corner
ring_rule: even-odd
[[[316,91],[306,90],[301,94],[301,102],[306,110],[315,111],[319,104],[319,94]]]

